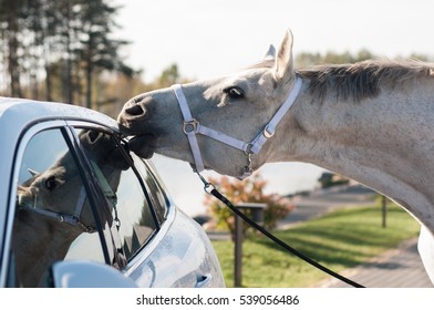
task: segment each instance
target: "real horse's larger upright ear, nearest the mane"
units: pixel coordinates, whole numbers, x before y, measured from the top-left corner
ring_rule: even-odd
[[[293,75],[292,32],[288,29],[280,43],[275,62],[275,78],[278,82],[287,82]]]

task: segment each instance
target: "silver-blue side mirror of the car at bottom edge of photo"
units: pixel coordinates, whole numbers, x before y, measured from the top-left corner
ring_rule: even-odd
[[[94,261],[58,261],[51,267],[50,278],[54,288],[137,288],[121,271]]]

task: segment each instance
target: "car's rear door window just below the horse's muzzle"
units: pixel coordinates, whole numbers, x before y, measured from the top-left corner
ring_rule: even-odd
[[[143,177],[137,174],[135,161],[112,134],[76,128],[80,141],[93,141],[94,146],[84,148],[95,180],[113,209],[121,245],[126,259],[133,258],[154,236],[158,228],[153,198]],[[87,136],[87,137],[85,137]],[[97,148],[104,152],[94,152]],[[95,155],[96,154],[96,155]]]

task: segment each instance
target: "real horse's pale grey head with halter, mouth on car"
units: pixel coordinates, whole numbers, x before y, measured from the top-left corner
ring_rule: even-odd
[[[262,143],[264,147],[255,142],[262,134],[267,138],[275,134],[275,128],[270,133],[265,127],[294,84],[292,34],[288,31],[278,51],[271,46],[265,59],[251,68],[131,99],[118,123],[125,133],[135,136],[130,147],[142,157],[151,157],[156,152],[189,162],[196,169],[244,177],[266,162],[279,161],[272,151],[279,147],[272,146],[279,138],[270,138]],[[180,101],[187,106],[190,120],[186,120]],[[202,164],[192,149],[188,137],[192,132],[197,134]],[[285,133],[277,130],[278,135]]]

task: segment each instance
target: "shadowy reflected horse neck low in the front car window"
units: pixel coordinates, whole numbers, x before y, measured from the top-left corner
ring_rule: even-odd
[[[24,217],[25,216],[25,217]],[[19,215],[13,228],[17,278],[23,287],[43,286],[43,276],[56,260],[63,260],[80,235],[76,228],[39,215]]]

